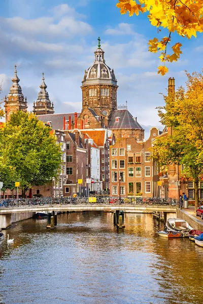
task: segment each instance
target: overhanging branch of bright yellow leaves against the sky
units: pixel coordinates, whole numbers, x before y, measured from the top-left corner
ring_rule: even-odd
[[[161,28],[168,30],[168,35],[149,41],[149,51],[160,52],[163,65],[158,67],[158,73],[164,75],[168,68],[165,62],[177,61],[182,53],[179,42],[172,46],[173,53],[169,55],[166,47],[171,42],[172,33],[176,32],[182,37],[196,37],[197,32],[203,31],[203,2],[202,0],[118,0],[117,7],[121,14],[129,12],[129,16],[147,13],[151,25],[156,26],[157,33]]]

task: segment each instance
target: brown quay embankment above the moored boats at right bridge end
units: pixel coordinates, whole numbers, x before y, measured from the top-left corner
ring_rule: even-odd
[[[194,206],[189,206],[187,209],[177,208],[177,218],[185,219],[194,229],[203,231],[203,220],[195,215]]]

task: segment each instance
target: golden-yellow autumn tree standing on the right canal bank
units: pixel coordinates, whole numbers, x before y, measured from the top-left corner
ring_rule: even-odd
[[[161,123],[172,132],[157,138],[152,150],[160,166],[185,165],[185,174],[194,180],[197,208],[198,182],[203,174],[203,75],[186,74],[186,89],[168,92],[164,96],[165,105],[158,108]]]

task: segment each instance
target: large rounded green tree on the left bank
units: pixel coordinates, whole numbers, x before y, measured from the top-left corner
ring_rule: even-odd
[[[50,128],[32,113],[12,113],[0,130],[0,143],[0,157],[5,156],[5,165],[15,171],[24,194],[31,185],[44,185],[57,178],[60,146]]]

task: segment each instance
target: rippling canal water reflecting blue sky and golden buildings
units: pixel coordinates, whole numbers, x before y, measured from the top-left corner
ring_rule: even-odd
[[[113,213],[28,219],[5,231],[0,245],[0,303],[203,303],[203,248],[189,239],[162,239],[151,214]]]

